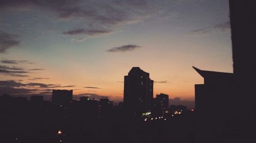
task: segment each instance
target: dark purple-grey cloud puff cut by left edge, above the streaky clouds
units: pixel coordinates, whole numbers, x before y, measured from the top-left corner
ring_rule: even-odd
[[[0,53],[6,52],[6,50],[11,47],[18,46],[20,41],[16,39],[17,37],[18,35],[0,31]]]

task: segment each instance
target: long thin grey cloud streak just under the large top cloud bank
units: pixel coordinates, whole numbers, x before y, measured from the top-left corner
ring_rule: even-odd
[[[100,35],[100,34],[107,34],[110,33],[110,30],[97,30],[97,29],[90,29],[90,30],[86,30],[84,28],[82,29],[77,29],[77,30],[72,30],[72,31],[68,31],[68,32],[64,32],[63,34],[66,35]]]

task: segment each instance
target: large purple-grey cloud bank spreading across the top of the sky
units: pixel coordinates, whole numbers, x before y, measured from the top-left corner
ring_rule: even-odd
[[[144,21],[162,9],[155,2],[134,0],[12,0],[0,1],[0,11],[40,10],[57,15],[60,21],[76,21],[77,27],[63,34],[95,36],[110,33],[118,27]],[[77,37],[75,37],[77,38]],[[83,37],[84,38],[84,37]],[[82,39],[81,37],[78,39]]]

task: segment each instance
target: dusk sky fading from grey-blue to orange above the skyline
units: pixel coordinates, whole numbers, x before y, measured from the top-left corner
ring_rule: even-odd
[[[192,66],[232,72],[227,0],[0,1],[0,94],[122,101],[140,67],[154,96],[194,101]]]

